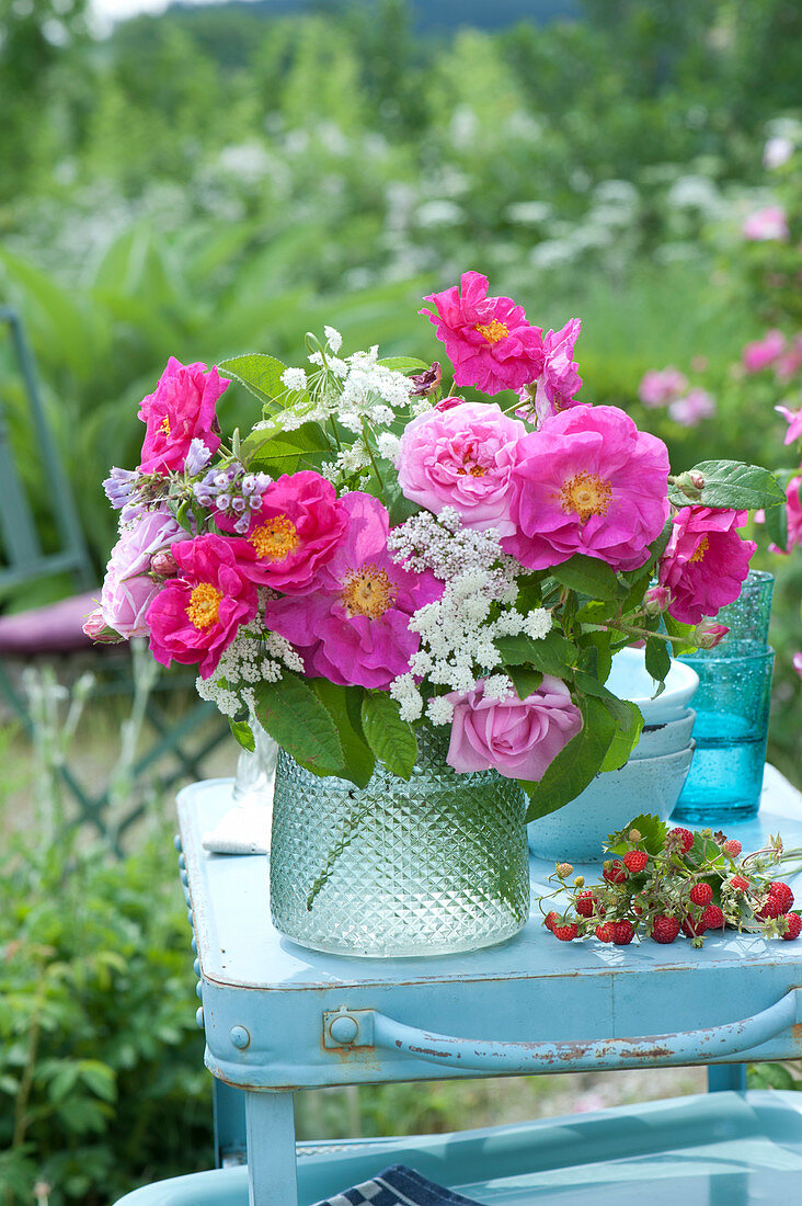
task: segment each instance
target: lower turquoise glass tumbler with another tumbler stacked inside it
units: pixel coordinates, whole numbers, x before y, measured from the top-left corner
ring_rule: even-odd
[[[671,819],[713,829],[749,820],[763,785],[774,650],[681,660],[699,677],[692,699],[696,753]]]

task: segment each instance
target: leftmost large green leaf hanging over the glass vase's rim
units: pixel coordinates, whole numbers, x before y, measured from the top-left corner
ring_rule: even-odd
[[[254,687],[256,715],[265,732],[314,774],[345,774],[345,757],[328,709],[299,674]]]

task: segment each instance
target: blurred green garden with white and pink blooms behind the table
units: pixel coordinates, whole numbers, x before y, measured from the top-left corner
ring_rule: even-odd
[[[624,406],[677,470],[800,472],[774,410],[802,403],[795,0],[113,10],[0,0],[0,305],[27,326],[99,580],[115,539],[100,484],[136,463],[136,404],[169,356],[299,364],[304,332],[329,323],[346,352],[432,359],[420,299],[468,268],[544,328],[579,316],[581,397]],[[5,345],[0,392],[24,463]],[[227,393],[227,428],[250,426],[248,399]],[[47,482],[39,499],[47,527]],[[802,785],[798,493],[795,508],[790,535],[750,534],[777,576],[769,756]],[[113,716],[68,712],[42,716],[51,763],[115,747]],[[51,839],[48,756],[12,727],[2,742],[0,1200],[100,1206],[210,1159],[171,801],[124,862],[77,832]],[[572,1083],[330,1090],[303,1099],[299,1130],[446,1130],[668,1091]]]

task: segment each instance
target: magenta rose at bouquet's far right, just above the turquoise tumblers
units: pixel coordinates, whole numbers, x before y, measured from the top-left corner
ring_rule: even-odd
[[[698,624],[740,595],[757,548],[736,531],[745,522],[745,511],[709,507],[684,507],[674,516],[660,562],[660,585],[668,587],[668,614],[680,624]]]

